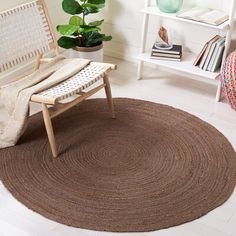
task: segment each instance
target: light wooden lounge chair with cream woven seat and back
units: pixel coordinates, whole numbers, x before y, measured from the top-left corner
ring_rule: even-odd
[[[35,58],[34,71],[36,71],[42,63],[52,60],[52,58],[43,58],[43,55],[51,52],[55,56],[59,55],[54,30],[43,0],[33,0],[0,12],[0,36],[0,72],[18,68],[19,65]],[[52,126],[54,117],[71,109],[99,90],[105,89],[112,118],[115,118],[107,74],[114,69],[116,65],[113,64],[91,62],[71,78],[31,97],[32,102],[42,104],[44,123],[53,157],[58,156]],[[96,87],[92,86],[98,81],[102,83]],[[65,99],[69,97],[73,97],[73,100],[65,103]]]

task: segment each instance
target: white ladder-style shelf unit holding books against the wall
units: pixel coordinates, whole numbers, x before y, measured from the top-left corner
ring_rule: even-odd
[[[149,16],[154,15],[157,17],[162,17],[162,18],[167,18],[171,19],[173,21],[179,21],[179,22],[185,22],[189,23],[192,25],[200,25],[203,27],[208,27],[210,29],[215,29],[215,30],[226,30],[226,45],[225,45],[225,52],[223,56],[223,62],[225,61],[229,49],[230,49],[230,44],[231,44],[231,37],[232,37],[232,32],[233,32],[233,27],[234,27],[234,21],[235,21],[235,7],[236,7],[236,1],[232,0],[232,5],[230,7],[230,12],[229,12],[229,20],[224,22],[221,25],[215,26],[215,25],[210,25],[210,24],[205,24],[202,22],[197,22],[193,20],[188,20],[188,19],[183,19],[180,17],[177,17],[175,13],[164,13],[161,12],[157,6],[150,6],[150,0],[146,0],[145,3],[145,8],[142,10],[142,13],[144,14],[143,18],[143,30],[142,30],[142,45],[140,49],[140,54],[137,57],[139,64],[138,64],[138,79],[142,78],[143,74],[143,66],[144,62],[147,63],[152,63],[161,67],[165,67],[168,69],[173,69],[175,71],[180,71],[184,72],[187,74],[199,76],[200,78],[206,78],[210,80],[215,80],[218,88],[217,88],[217,93],[216,93],[216,101],[220,101],[221,99],[221,82],[219,80],[220,78],[220,71],[218,72],[209,72],[209,71],[204,71],[196,66],[193,65],[194,60],[196,59],[197,55],[189,52],[183,52],[183,58],[181,62],[175,62],[175,61],[164,61],[164,60],[155,60],[150,58],[151,52],[145,52],[146,48],[146,42],[147,42],[147,29],[148,29],[148,24],[149,24]],[[223,63],[222,63],[223,65]],[[221,68],[222,69],[222,68]]]

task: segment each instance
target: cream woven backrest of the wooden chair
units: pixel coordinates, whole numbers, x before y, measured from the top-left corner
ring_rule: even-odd
[[[0,12],[0,72],[57,50],[43,0],[33,0]]]

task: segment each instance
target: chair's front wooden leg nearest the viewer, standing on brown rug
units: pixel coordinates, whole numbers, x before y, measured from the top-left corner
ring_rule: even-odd
[[[43,119],[44,119],[46,131],[48,134],[48,140],[49,140],[50,147],[52,150],[52,155],[54,158],[56,158],[57,157],[57,147],[56,147],[56,141],[55,141],[55,136],[54,136],[53,127],[52,127],[52,121],[50,118],[50,114],[49,114],[47,105],[43,103],[42,107],[43,107]]]

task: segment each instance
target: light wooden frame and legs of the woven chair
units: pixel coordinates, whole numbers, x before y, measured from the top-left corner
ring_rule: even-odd
[[[51,19],[48,14],[48,10],[46,7],[46,4],[44,0],[34,0],[36,3],[43,8],[43,11],[45,13],[45,17],[47,20],[47,24],[49,26],[49,34],[52,36],[53,42],[50,44],[50,49],[52,49],[56,55],[59,55],[59,48],[57,45],[56,41],[56,36],[55,32],[53,30],[52,24],[51,24]],[[16,9],[16,8],[15,8]],[[15,10],[14,9],[14,10]],[[30,59],[30,56],[29,56]],[[39,67],[41,66],[42,63],[48,63],[52,60],[53,58],[43,58],[42,53],[38,53],[38,56],[36,58],[35,66],[34,66],[34,71],[38,70]],[[21,61],[19,62],[21,63]],[[79,94],[77,94],[77,98],[75,98],[73,101],[68,102],[68,103],[62,103],[58,101],[58,99],[46,99],[43,96],[40,96],[39,94],[34,94],[31,97],[31,102],[34,103],[39,103],[42,105],[42,113],[43,113],[43,119],[52,151],[52,155],[54,158],[58,156],[58,151],[57,151],[57,145],[56,145],[56,140],[55,140],[55,135],[53,131],[53,126],[52,126],[52,119],[61,115],[62,113],[66,112],[67,110],[71,109],[72,107],[78,105],[85,99],[89,98],[90,96],[94,95],[101,89],[105,89],[106,92],[106,97],[109,105],[109,109],[112,115],[112,118],[115,118],[115,113],[114,113],[114,104],[113,104],[113,99],[112,99],[112,94],[111,94],[111,87],[109,83],[109,78],[107,73],[110,70],[115,70],[116,65],[113,64],[108,64],[108,63],[96,63],[96,62],[91,62],[90,65],[103,65],[106,69],[106,73],[103,77],[103,83],[93,89],[91,89],[88,92],[81,91]],[[11,63],[9,66],[12,66]],[[8,66],[7,66],[8,67]],[[49,107],[50,106],[50,107]]]

